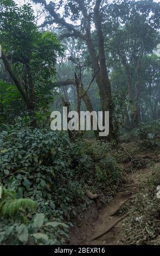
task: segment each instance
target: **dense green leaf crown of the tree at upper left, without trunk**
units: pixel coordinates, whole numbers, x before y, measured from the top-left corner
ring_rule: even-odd
[[[1,44],[14,60],[14,69],[23,79],[29,69],[33,82],[49,82],[55,75],[55,63],[62,46],[56,35],[51,32],[39,32],[35,25],[34,11],[29,4],[14,8],[2,5]],[[7,16],[7,19],[5,19]]]

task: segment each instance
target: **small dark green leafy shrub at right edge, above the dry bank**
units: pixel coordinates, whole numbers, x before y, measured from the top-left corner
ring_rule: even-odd
[[[139,138],[142,140],[142,147],[156,148],[160,146],[160,121],[152,121],[150,124],[139,124],[137,130]]]

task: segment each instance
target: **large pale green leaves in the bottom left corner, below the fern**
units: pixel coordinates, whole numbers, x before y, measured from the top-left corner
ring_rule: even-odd
[[[5,219],[0,224],[0,245],[59,245],[57,234],[68,237],[67,229],[60,221],[48,222],[44,214],[36,214],[28,225]]]

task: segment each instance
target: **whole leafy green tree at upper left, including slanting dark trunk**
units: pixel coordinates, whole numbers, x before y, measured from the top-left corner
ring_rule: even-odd
[[[35,88],[52,81],[62,47],[50,32],[40,33],[29,4],[18,7],[12,0],[1,1],[0,40],[2,60],[30,117],[35,117]]]

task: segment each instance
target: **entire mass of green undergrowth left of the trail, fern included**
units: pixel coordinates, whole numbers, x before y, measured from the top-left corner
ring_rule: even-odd
[[[0,142],[1,244],[63,243],[71,217],[90,204],[86,187],[110,200],[121,184],[106,143],[71,143],[64,132],[18,126]]]

